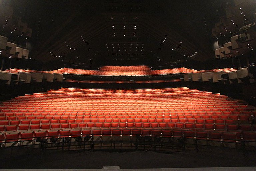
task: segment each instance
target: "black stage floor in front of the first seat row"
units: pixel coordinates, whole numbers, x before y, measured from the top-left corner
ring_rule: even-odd
[[[220,147],[173,153],[0,148],[0,169],[102,169],[103,166],[121,166],[121,169],[256,166],[256,151]]]

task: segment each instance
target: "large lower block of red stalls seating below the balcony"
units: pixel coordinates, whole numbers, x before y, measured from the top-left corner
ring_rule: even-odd
[[[255,108],[244,101],[187,87],[61,88],[2,102],[0,141],[18,141],[26,135],[31,139],[63,137],[63,132],[72,136],[72,131],[98,135],[107,129],[108,134],[115,134],[116,128],[122,134],[203,136],[207,140],[218,134],[215,141],[256,141],[256,127],[250,124],[255,115]]]

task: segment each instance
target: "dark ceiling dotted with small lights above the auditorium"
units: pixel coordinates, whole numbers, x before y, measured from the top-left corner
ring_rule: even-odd
[[[214,58],[211,28],[228,0],[13,0],[30,57],[82,65],[163,65]]]

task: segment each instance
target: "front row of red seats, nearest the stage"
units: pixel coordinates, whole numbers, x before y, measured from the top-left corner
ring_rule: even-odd
[[[138,128],[94,128],[94,129],[78,129],[78,130],[48,130],[48,131],[26,131],[0,134],[0,142],[15,142],[35,140],[41,138],[62,138],[62,137],[78,137],[78,136],[162,136],[162,137],[187,137],[194,140],[213,140],[219,142],[239,142],[239,141],[255,141],[256,132],[252,131],[202,131],[202,130],[185,130],[185,129],[138,129]]]

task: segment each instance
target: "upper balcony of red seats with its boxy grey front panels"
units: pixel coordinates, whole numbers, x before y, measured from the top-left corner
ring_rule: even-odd
[[[230,75],[231,83],[242,83],[243,79],[248,76],[247,68],[240,70],[233,68],[213,69],[213,70],[191,70],[188,68],[173,68],[163,70],[151,70],[148,66],[103,66],[99,70],[82,70],[72,68],[62,68],[53,71],[36,71],[29,69],[8,69],[0,71],[0,80],[5,84],[18,85],[22,83],[33,82],[62,82],[63,77],[68,80],[172,80],[184,78],[184,81],[209,81],[218,82],[222,75]],[[122,76],[122,78],[120,78]],[[131,78],[133,77],[133,78]],[[2,82],[3,82],[2,81]]]

